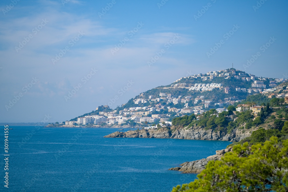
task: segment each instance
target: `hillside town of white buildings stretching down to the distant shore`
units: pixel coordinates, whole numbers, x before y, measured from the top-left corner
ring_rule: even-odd
[[[65,121],[63,126],[138,125],[157,129],[172,126],[175,117],[199,116],[210,109],[221,113],[227,111],[229,105],[234,105],[238,112],[252,110],[256,117],[264,106],[244,104],[247,96],[260,94],[288,104],[288,87],[281,85],[285,82],[287,79],[257,77],[233,68],[211,71],[182,77],[168,86],[143,92],[115,110],[108,105],[99,106],[91,113]]]

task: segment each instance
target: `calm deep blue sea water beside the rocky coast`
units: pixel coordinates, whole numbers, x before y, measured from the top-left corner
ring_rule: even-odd
[[[173,186],[193,181],[196,174],[181,174],[168,168],[214,155],[215,150],[230,144],[203,140],[103,138],[118,130],[108,128],[9,128],[13,130],[9,130],[8,190],[17,192],[171,191]],[[3,139],[4,130],[1,131]],[[2,157],[3,142],[0,142]],[[0,191],[8,191],[3,186],[3,177],[1,180]]]

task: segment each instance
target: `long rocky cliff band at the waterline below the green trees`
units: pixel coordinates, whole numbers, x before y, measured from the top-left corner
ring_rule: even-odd
[[[226,134],[222,131],[205,130],[204,128],[182,128],[182,129],[159,129],[159,130],[134,130],[127,132],[114,132],[104,137],[128,137],[128,138],[174,138],[174,139],[193,139],[193,140],[223,140],[240,141],[249,137],[253,130],[234,130],[233,133]]]

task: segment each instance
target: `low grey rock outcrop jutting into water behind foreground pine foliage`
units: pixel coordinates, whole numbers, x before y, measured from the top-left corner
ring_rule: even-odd
[[[218,150],[216,151],[216,155],[211,155],[206,159],[200,159],[190,162],[187,161],[185,163],[182,163],[180,165],[181,167],[170,168],[169,170],[182,171],[183,173],[200,173],[202,170],[205,169],[205,166],[208,164],[208,161],[220,160],[221,157],[223,157],[223,155],[228,151],[232,151],[232,147],[229,147],[228,149]]]

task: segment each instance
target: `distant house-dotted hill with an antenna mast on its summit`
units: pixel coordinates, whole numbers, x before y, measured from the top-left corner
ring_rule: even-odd
[[[113,113],[115,117],[112,115],[112,120],[114,120],[104,119],[101,125],[135,126],[135,123],[139,123],[140,126],[154,125],[161,123],[161,117],[166,121],[172,121],[175,117],[185,114],[201,114],[210,109],[228,108],[229,105],[236,106],[246,102],[260,105],[270,102],[271,98],[268,98],[268,94],[262,94],[262,91],[271,90],[281,83],[286,86],[287,82],[283,81],[287,80],[257,77],[232,68],[211,71],[182,77],[169,85],[140,93],[114,110],[109,108],[109,103],[106,106],[99,106],[96,110],[70,121],[77,121],[80,117],[108,117]],[[255,94],[258,96],[254,97]],[[147,119],[140,121],[141,117]],[[88,123],[84,125],[86,124]]]

